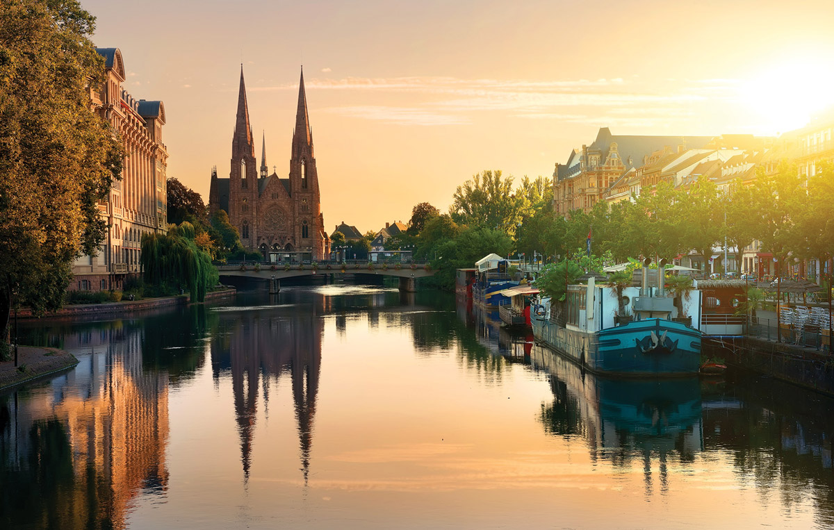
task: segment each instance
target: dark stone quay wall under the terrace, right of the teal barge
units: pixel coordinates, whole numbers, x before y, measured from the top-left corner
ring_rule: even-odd
[[[834,396],[834,356],[826,352],[753,337],[706,339],[704,351],[729,366]]]

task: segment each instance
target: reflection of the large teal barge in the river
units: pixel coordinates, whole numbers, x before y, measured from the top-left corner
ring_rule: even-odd
[[[535,369],[548,373],[554,401],[543,404],[545,431],[585,439],[593,460],[626,468],[643,464],[646,495],[654,493],[652,460],[661,493],[668,488],[668,460],[691,462],[704,447],[698,378],[627,380],[585,373],[548,348],[531,351]]]

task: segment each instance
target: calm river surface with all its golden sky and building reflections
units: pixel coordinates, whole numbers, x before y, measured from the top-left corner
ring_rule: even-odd
[[[834,526],[832,400],[583,377],[436,293],[24,333],[81,362],[0,396],[3,528]]]

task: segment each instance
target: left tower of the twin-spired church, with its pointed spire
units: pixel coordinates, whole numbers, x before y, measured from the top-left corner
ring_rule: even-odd
[[[240,231],[244,247],[253,247],[257,239],[258,168],[255,147],[249,124],[249,105],[246,102],[244,66],[240,65],[238,114],[232,138],[232,160],[229,170],[229,221]]]

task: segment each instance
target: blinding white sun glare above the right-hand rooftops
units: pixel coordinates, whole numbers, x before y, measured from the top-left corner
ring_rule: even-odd
[[[785,133],[834,105],[832,87],[834,61],[806,57],[765,67],[741,83],[739,98],[751,107],[757,133]]]

